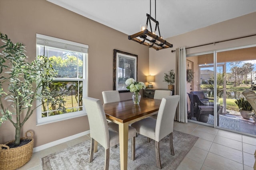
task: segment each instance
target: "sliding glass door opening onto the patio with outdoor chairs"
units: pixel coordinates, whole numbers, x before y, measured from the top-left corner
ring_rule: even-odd
[[[255,64],[255,45],[188,55],[189,121],[256,135],[256,123],[236,105],[243,91],[254,90]]]

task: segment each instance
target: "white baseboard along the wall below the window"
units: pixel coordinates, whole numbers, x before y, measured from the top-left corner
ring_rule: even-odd
[[[72,136],[69,136],[69,137],[65,137],[65,138],[62,138],[62,139],[59,139],[57,141],[53,141],[53,142],[50,142],[50,143],[46,143],[44,145],[41,145],[39,147],[35,147],[33,148],[33,152],[38,152],[40,150],[44,150],[44,149],[47,149],[47,148],[50,148],[50,147],[53,147],[53,146],[56,146],[56,145],[59,145],[61,143],[65,143],[67,141],[70,141],[72,139],[76,139],[78,137],[82,137],[84,135],[88,135],[90,133],[90,130],[88,131],[84,131],[84,132],[81,132],[81,133],[78,133],[76,135],[72,135]]]

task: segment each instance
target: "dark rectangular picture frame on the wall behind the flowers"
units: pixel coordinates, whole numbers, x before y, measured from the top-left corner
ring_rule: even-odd
[[[118,90],[120,93],[130,92],[126,89],[125,81],[128,78],[137,81],[138,55],[114,49],[113,63],[113,90]]]

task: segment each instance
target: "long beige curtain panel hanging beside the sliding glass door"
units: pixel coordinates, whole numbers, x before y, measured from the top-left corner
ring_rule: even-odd
[[[188,122],[187,116],[187,96],[186,96],[186,49],[180,47],[176,49],[176,70],[175,70],[175,94],[180,96],[180,102],[177,107],[176,120],[179,122]]]

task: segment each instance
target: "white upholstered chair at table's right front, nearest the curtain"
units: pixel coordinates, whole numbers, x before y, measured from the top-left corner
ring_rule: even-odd
[[[155,140],[156,163],[158,168],[160,169],[162,167],[159,153],[159,142],[167,135],[169,135],[170,137],[170,152],[172,155],[174,155],[172,132],[174,115],[179,100],[180,96],[178,95],[162,98],[157,119],[147,117],[145,119],[132,123],[131,125],[136,129],[137,133]]]

